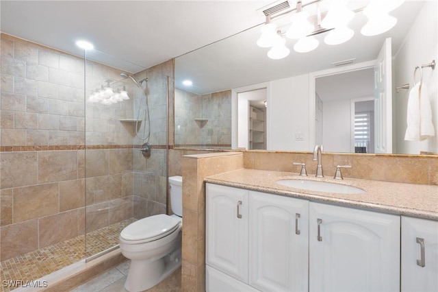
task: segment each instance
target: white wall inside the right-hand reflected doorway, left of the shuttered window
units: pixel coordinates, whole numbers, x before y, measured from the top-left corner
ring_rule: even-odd
[[[351,151],[351,100],[324,101],[322,117],[324,151]]]

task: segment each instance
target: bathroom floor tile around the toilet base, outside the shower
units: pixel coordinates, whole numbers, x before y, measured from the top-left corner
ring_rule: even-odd
[[[125,280],[129,269],[129,260],[102,273],[96,278],[82,284],[72,292],[127,292]],[[180,292],[181,291],[181,268],[147,292]]]

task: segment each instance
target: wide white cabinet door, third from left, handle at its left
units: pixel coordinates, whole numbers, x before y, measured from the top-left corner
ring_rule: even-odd
[[[309,206],[309,291],[400,291],[400,216]]]

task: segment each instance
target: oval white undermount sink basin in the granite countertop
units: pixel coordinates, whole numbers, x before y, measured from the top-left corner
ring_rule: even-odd
[[[331,182],[321,182],[318,180],[278,180],[277,184],[290,186],[291,188],[300,188],[307,191],[318,191],[325,193],[365,193],[363,189],[345,184],[333,184]]]

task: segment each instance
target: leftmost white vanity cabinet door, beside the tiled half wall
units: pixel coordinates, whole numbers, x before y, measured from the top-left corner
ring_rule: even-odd
[[[248,191],[207,184],[206,263],[248,283]]]

